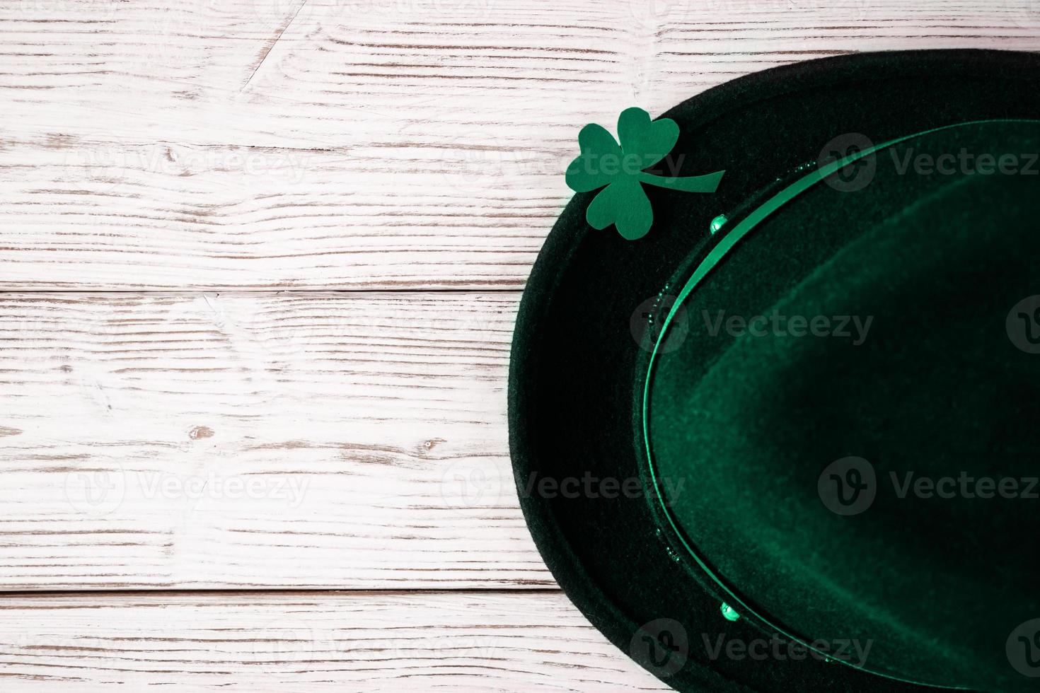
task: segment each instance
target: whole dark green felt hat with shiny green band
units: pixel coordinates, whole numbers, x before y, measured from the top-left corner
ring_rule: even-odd
[[[1034,54],[860,54],[581,131],[514,471],[676,690],[1040,690],[1038,87]]]

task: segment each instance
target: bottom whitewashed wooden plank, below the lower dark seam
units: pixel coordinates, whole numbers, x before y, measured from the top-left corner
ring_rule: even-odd
[[[6,690],[665,691],[560,592],[8,596]]]

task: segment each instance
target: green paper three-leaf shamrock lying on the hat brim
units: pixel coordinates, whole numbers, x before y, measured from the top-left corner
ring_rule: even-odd
[[[595,123],[581,128],[578,133],[581,155],[567,167],[567,186],[574,192],[603,188],[586,211],[589,225],[602,230],[613,223],[630,241],[646,236],[653,223],[653,210],[643,184],[682,192],[714,192],[726,172],[688,178],[648,172],[647,168],[659,163],[675,146],[679,126],[667,117],[651,122],[650,114],[642,108],[626,108],[621,112],[618,139],[621,144]]]

